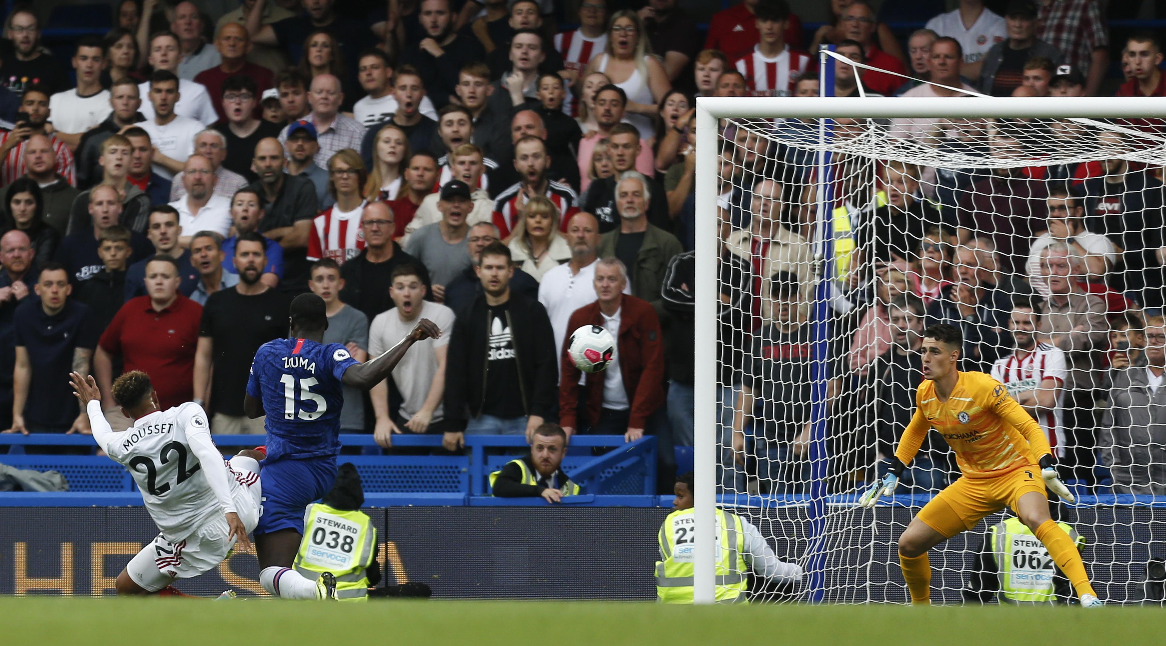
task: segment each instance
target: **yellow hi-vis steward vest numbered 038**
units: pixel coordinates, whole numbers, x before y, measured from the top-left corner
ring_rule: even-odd
[[[303,541],[292,564],[315,581],[323,573],[336,576],[336,598],[368,601],[368,575],[375,554],[377,528],[360,511],[344,512],[316,503],[303,515]]]

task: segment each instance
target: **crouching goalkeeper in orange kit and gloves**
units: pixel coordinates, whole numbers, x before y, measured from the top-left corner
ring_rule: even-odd
[[[923,332],[923,382],[915,392],[915,414],[890,472],[859,498],[859,506],[873,507],[879,497],[894,492],[899,475],[935,428],[955,451],[963,477],[925,505],[899,536],[899,564],[912,603],[930,603],[927,550],[1007,505],[1048,549],[1081,605],[1102,605],[1076,546],[1048,513],[1046,486],[1069,503],[1074,498],[1056,475],[1045,431],[1003,384],[982,372],[956,370],[962,343],[960,330],[951,325],[932,325]]]

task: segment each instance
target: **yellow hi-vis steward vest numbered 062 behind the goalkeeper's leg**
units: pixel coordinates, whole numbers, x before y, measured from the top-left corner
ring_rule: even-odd
[[[1086,539],[1065,522],[1058,527],[1081,549]],[[989,546],[1000,581],[1000,603],[1053,603],[1053,575],[1056,566],[1045,545],[1017,517],[1005,519],[988,529]]]

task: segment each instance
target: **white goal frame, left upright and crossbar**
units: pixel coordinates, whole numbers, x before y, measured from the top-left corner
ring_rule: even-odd
[[[822,119],[822,141],[826,136],[826,120],[837,118],[852,119],[926,119],[926,118],[1002,118],[1002,119],[1123,119],[1156,118],[1166,119],[1166,98],[1121,98],[1111,97],[969,97],[963,100],[950,98],[793,98],[793,97],[700,97],[696,99],[696,285],[698,295],[695,308],[695,515],[698,536],[711,536],[715,525],[714,508],[716,498],[717,469],[717,414],[716,393],[718,371],[716,336],[717,308],[710,297],[717,289],[717,254],[718,254],[718,217],[717,217],[717,120],[724,118],[802,118]],[[817,153],[821,167],[822,155]],[[822,174],[819,174],[821,177]],[[824,190],[817,191],[819,199],[824,199]],[[828,213],[819,209],[820,218]],[[828,219],[828,218],[827,218]],[[817,226],[829,226],[820,222]],[[827,239],[827,236],[820,236]],[[821,248],[815,248],[815,258],[829,258]],[[816,265],[821,265],[816,262]],[[815,285],[822,280],[822,272],[815,276]],[[701,303],[704,307],[701,307]],[[824,385],[823,385],[824,388]],[[823,389],[824,392],[824,389]],[[824,443],[823,437],[813,441]],[[813,496],[813,493],[812,493]],[[824,504],[824,499],[822,500]],[[813,505],[813,503],[812,503]],[[814,545],[810,536],[809,546]],[[695,603],[708,604],[715,598],[715,541],[698,540],[695,545]],[[809,555],[810,567],[807,568],[807,588],[810,601],[821,598],[814,596],[815,577],[821,581],[821,571],[814,571],[815,560]],[[821,563],[821,560],[817,561]],[[817,591],[819,595],[821,590]]]

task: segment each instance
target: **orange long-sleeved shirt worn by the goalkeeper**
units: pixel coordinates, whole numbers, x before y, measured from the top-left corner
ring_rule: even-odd
[[[940,401],[935,382],[925,379],[915,391],[915,415],[895,457],[909,464],[933,428],[955,450],[960,470],[969,478],[991,478],[1052,454],[1037,421],[1003,384],[983,372],[958,373],[947,401]]]

